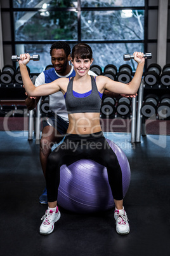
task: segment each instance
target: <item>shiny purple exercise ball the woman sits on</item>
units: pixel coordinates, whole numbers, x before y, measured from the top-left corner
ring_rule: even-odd
[[[129,162],[119,146],[109,139],[107,141],[121,166],[125,196],[131,180]],[[65,210],[77,213],[94,213],[114,208],[107,168],[90,159],[78,160],[70,166],[63,165],[60,168],[58,204]]]

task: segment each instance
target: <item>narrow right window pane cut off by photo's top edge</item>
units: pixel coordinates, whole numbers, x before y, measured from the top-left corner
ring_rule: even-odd
[[[145,6],[145,0],[81,0],[81,7]]]

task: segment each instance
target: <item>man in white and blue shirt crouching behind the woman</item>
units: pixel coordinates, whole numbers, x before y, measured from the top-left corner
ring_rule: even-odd
[[[58,78],[75,76],[74,68],[69,64],[70,46],[68,43],[64,41],[53,43],[50,48],[50,55],[53,68],[43,71],[37,77],[35,82],[36,87],[44,83],[53,82]],[[89,71],[89,75],[96,76],[92,71]],[[39,102],[39,99],[40,97],[27,97],[27,99],[25,99],[27,108],[33,110]],[[44,176],[46,174],[47,159],[51,153],[51,145],[62,141],[69,125],[65,99],[62,92],[56,92],[49,96],[49,110],[51,110],[51,112],[48,113],[49,118],[42,129],[40,141],[40,161]],[[39,197],[39,202],[41,204],[48,203],[46,188]]]

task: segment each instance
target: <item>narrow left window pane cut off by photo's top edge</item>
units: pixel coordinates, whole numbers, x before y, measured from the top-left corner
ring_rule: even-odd
[[[44,5],[43,5],[44,4]],[[77,7],[75,0],[13,0],[14,8],[48,8],[48,7]]]

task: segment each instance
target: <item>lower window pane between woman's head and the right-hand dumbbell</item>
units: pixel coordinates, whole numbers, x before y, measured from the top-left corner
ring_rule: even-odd
[[[137,63],[134,60],[124,61],[124,54],[143,52],[143,43],[97,43],[89,44],[93,50],[93,64],[103,70],[108,64],[113,64],[119,69],[123,64],[128,64],[136,70]]]

